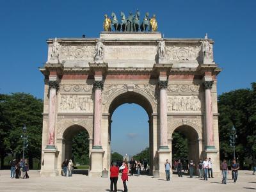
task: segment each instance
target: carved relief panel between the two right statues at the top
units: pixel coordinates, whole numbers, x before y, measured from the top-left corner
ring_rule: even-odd
[[[198,60],[201,46],[167,46],[168,60]]]

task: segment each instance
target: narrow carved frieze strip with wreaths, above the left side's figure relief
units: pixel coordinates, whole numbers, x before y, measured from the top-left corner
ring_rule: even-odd
[[[92,92],[92,84],[60,84],[60,92]]]

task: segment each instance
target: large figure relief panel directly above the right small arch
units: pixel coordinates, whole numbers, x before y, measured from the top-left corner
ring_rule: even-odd
[[[168,96],[168,111],[201,111],[198,96]]]

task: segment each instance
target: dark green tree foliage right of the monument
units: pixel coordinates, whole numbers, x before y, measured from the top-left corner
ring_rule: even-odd
[[[251,89],[239,89],[218,97],[220,157],[232,158],[230,129],[237,131],[236,156],[243,166],[244,157],[256,154],[256,83]]]

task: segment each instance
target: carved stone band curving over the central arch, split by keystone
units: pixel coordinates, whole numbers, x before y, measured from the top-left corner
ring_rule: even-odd
[[[148,103],[150,104],[150,106],[152,108],[152,113],[157,114],[156,99],[152,99],[152,96],[150,96],[147,92],[144,92],[143,90],[141,90],[139,88],[134,88],[133,92],[138,93],[138,95],[141,95],[145,99],[147,99]],[[119,95],[122,95],[124,93],[128,93],[127,88],[122,88],[122,89],[116,91],[115,93],[109,95],[109,99],[108,99],[108,101],[106,102],[106,104],[104,106],[103,112],[104,113],[109,113],[109,107],[111,106],[113,100],[115,100]]]

